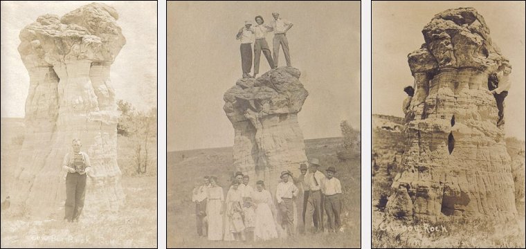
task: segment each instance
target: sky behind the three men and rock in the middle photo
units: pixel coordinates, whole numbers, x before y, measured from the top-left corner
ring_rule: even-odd
[[[168,151],[233,145],[223,94],[242,75],[235,34],[256,15],[269,23],[272,12],[294,24],[291,62],[309,91],[298,115],[305,138],[341,136],[342,120],[360,128],[359,1],[177,1],[167,8]],[[260,75],[268,70],[262,55]]]

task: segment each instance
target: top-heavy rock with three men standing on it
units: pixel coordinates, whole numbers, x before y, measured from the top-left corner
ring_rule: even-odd
[[[298,112],[309,93],[291,66],[243,78],[224,94],[224,111],[235,130],[233,158],[237,170],[263,180],[275,191],[283,170],[298,176],[307,163]]]

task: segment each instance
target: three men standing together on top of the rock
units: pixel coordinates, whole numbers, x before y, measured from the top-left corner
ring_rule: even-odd
[[[278,57],[280,55],[280,46],[283,48],[287,66],[291,66],[291,57],[289,53],[289,41],[287,40],[287,31],[292,28],[293,24],[290,21],[280,18],[278,12],[273,12],[274,20],[271,24],[264,24],[262,16],[255,17],[257,25],[252,26],[252,21],[245,21],[245,26],[240,28],[237,32],[236,39],[241,41],[241,64],[243,70],[243,77],[255,77],[260,72],[260,57],[261,53],[266,57],[271,68],[278,67]],[[266,43],[266,33],[273,32],[273,56],[269,44]],[[252,44],[254,44],[254,75],[250,75],[252,68]]]

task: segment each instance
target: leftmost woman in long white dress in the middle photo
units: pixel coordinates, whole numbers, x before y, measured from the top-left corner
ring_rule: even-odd
[[[210,176],[211,187],[206,190],[206,216],[208,219],[208,240],[223,239],[223,188],[217,185],[217,177]]]

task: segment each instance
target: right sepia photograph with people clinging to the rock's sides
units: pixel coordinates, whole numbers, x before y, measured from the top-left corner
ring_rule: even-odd
[[[525,2],[372,1],[372,247],[525,248]]]

